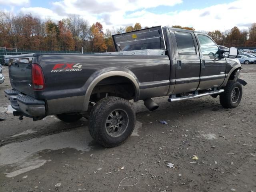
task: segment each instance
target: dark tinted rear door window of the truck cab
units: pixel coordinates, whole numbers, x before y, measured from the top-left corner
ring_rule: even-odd
[[[196,54],[194,40],[190,33],[175,31],[179,54]]]

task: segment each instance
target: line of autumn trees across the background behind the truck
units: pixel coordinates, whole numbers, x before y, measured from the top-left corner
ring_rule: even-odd
[[[194,30],[193,27],[174,25],[173,28]],[[90,26],[89,22],[80,15],[70,14],[66,19],[55,23],[52,20],[43,20],[32,14],[12,14],[0,11],[0,46],[17,48],[20,50],[84,50],[90,52],[114,51],[112,34],[120,34],[139,30],[142,26],[112,28],[103,30],[100,22]],[[148,28],[145,26],[144,28]],[[220,32],[214,30],[208,35],[219,45],[237,47],[256,46],[256,23],[248,30],[234,27],[231,30]]]

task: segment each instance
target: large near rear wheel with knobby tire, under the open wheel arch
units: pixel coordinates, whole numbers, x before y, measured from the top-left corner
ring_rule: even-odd
[[[134,130],[136,116],[131,103],[118,97],[98,101],[90,112],[90,134],[104,147],[124,143]]]

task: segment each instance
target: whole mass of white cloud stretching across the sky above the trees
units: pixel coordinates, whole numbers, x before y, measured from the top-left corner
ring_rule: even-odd
[[[1,1],[1,0],[0,0]],[[256,2],[236,0],[202,9],[181,10],[166,13],[152,13],[147,9],[157,6],[175,6],[182,0],[59,0],[52,3],[51,9],[22,8],[42,18],[60,20],[68,14],[79,14],[91,24],[102,22],[104,28],[128,26],[140,22],[142,26],[192,26],[196,30],[221,30],[238,26],[248,29],[255,20]],[[250,5],[250,6],[248,6]],[[196,6],[196,3],[195,3]],[[186,5],[184,4],[184,7]],[[131,13],[130,13],[131,12]],[[130,14],[128,14],[130,13]]]

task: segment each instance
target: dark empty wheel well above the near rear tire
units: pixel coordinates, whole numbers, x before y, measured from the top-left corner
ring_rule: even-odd
[[[94,87],[90,102],[97,102],[106,96],[117,96],[127,100],[134,99],[136,88],[133,82],[123,76],[107,77]]]

